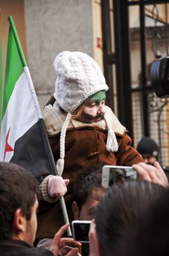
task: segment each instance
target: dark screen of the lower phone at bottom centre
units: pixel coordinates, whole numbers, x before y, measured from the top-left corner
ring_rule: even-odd
[[[90,223],[74,223],[74,234],[76,241],[88,242]]]

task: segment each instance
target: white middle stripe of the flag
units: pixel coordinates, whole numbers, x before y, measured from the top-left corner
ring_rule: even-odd
[[[15,147],[15,141],[23,136],[36,122],[38,117],[34,107],[34,101],[25,72],[20,75],[15,89],[9,99],[7,110],[2,120],[1,129],[1,145],[0,145],[0,161],[9,162],[12,158],[13,151],[7,152],[4,159],[4,148],[6,145],[6,136],[9,132],[9,146]]]

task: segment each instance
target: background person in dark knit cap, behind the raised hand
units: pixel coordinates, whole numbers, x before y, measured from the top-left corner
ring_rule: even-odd
[[[158,161],[160,148],[152,138],[143,137],[138,142],[137,151],[148,165],[154,165],[154,162]]]

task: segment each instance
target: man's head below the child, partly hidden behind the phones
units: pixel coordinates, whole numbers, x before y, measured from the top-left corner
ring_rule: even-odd
[[[74,184],[74,202],[71,205],[74,219],[92,220],[95,207],[106,189],[101,186],[103,164],[94,165],[82,173]]]

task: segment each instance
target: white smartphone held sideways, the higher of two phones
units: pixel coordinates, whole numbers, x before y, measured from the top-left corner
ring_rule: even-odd
[[[135,180],[137,173],[133,167],[104,165],[102,170],[102,187],[110,187],[117,182],[124,182],[125,180]]]

